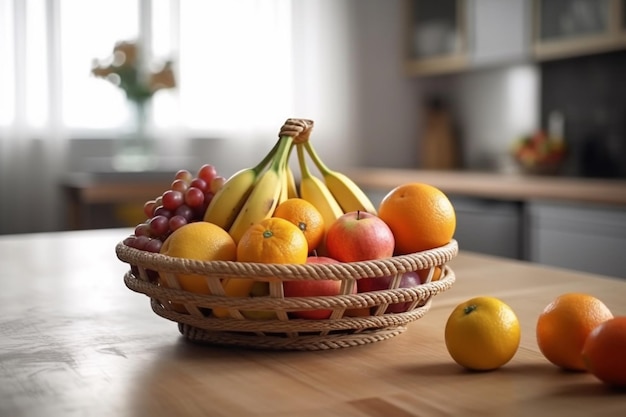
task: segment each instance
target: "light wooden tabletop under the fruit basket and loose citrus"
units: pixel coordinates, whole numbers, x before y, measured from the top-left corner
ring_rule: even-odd
[[[318,352],[200,346],[128,290],[115,244],[130,230],[0,237],[0,416],[619,416],[626,393],[539,353],[538,314],[583,291],[626,314],[626,281],[465,253],[457,282],[409,329]],[[445,321],[477,295],[522,326],[513,360],[487,373],[448,355]]]

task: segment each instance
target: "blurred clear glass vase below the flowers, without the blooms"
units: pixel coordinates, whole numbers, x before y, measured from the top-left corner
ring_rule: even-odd
[[[148,171],[157,165],[155,144],[147,129],[148,101],[129,101],[130,129],[115,141],[113,168],[117,171]]]

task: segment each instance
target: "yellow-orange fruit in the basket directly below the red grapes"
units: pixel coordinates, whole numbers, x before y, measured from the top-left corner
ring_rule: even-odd
[[[175,258],[199,261],[234,261],[237,254],[235,242],[226,231],[207,222],[189,223],[172,232],[161,247],[161,254]],[[177,274],[183,290],[200,294],[211,291],[202,275]],[[166,273],[159,273],[159,282],[164,287],[174,287]],[[178,311],[181,306],[174,306]]]

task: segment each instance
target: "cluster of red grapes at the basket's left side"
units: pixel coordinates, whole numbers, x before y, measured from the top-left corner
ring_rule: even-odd
[[[158,253],[172,232],[203,220],[211,199],[225,181],[210,164],[202,165],[195,177],[187,170],[178,171],[170,189],[146,201],[143,211],[147,220],[135,227],[134,234],[128,236],[124,244]]]

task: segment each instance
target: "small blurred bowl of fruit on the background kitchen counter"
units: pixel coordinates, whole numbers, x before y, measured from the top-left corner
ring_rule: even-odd
[[[563,138],[539,130],[516,140],[512,155],[524,174],[556,175],[563,165],[566,147]]]

